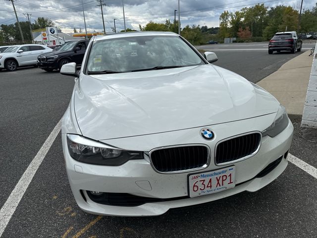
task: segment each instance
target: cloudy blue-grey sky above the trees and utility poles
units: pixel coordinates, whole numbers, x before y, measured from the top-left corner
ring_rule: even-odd
[[[112,32],[113,19],[117,31],[124,29],[122,0],[101,0],[103,4],[106,32]],[[317,0],[304,0],[303,8],[315,6]],[[300,8],[301,0],[180,0],[181,26],[207,25],[219,26],[219,16],[224,10],[236,11],[264,3],[271,7],[279,4]],[[100,0],[14,0],[19,21],[25,21],[23,13],[30,13],[31,22],[37,17],[47,17],[55,22],[62,32],[73,32],[73,28],[85,31],[83,7],[85,10],[87,31],[103,31]],[[0,24],[16,22],[13,6],[9,0],[0,0]],[[124,0],[126,28],[139,30],[139,24],[145,26],[150,20],[164,23],[174,20],[174,10],[178,9],[178,0]],[[176,12],[176,19],[178,18]]]

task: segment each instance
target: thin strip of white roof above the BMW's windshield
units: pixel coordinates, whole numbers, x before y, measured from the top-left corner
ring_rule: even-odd
[[[131,32],[120,32],[109,35],[98,35],[94,37],[94,41],[100,41],[105,39],[125,38],[131,36],[178,36],[174,32],[165,31],[131,31]]]

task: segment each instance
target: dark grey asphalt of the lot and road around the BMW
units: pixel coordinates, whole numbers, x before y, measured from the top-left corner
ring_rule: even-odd
[[[241,51],[241,46],[249,50]],[[261,44],[202,47],[219,47],[213,49],[219,58],[216,64],[254,82],[298,55],[268,55]],[[230,51],[224,51],[229,48]],[[72,77],[39,68],[0,72],[0,207],[62,117],[73,85]],[[308,133],[299,127],[299,119],[293,122],[296,135],[291,153],[312,164],[316,140],[314,136],[304,136]],[[316,163],[312,165],[316,167]],[[82,212],[72,196],[59,133],[2,238],[313,238],[317,231],[316,187],[317,179],[289,164],[278,179],[255,193],[172,209],[159,217],[94,216]]]

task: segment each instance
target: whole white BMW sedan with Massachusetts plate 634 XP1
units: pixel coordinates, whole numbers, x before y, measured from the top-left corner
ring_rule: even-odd
[[[62,120],[69,183],[93,214],[155,216],[254,192],[287,166],[293,125],[264,89],[168,32],[94,37]]]

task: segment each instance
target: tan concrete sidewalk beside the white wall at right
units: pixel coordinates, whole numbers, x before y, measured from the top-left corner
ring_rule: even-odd
[[[284,63],[277,71],[257,84],[271,93],[289,115],[303,115],[313,56],[306,51]]]

